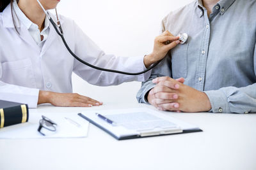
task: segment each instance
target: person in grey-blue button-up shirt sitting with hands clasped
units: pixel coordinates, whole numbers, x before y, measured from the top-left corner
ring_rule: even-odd
[[[186,32],[137,94],[159,110],[256,113],[256,1],[196,0],[171,12],[162,32]]]

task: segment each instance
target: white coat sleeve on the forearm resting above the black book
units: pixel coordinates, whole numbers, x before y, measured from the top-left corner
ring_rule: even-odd
[[[3,74],[0,62],[0,80]],[[0,100],[28,104],[29,108],[36,108],[38,103],[39,89],[31,89],[11,85],[0,81]]]

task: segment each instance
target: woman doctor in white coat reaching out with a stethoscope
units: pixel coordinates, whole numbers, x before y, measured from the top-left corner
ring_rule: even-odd
[[[50,10],[56,8],[60,0],[40,2],[45,10]],[[116,57],[100,50],[73,20],[60,16],[60,21],[71,50],[90,64],[108,69],[143,71],[179,44],[179,37],[164,32],[155,39],[150,55]],[[164,45],[165,41],[172,43]],[[139,76],[126,76],[81,64],[68,53],[36,0],[0,0],[1,100],[27,103],[29,108],[42,103],[82,107],[101,105],[99,101],[72,93],[73,71],[88,83],[99,86],[145,81],[150,76],[150,71]]]

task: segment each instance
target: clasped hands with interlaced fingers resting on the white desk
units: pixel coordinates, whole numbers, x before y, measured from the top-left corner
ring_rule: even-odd
[[[200,112],[211,110],[204,92],[184,85],[184,78],[174,80],[159,77],[152,80],[156,86],[148,93],[148,102],[163,111]]]

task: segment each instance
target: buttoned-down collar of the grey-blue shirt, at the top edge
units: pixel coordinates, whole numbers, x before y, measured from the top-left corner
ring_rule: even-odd
[[[223,15],[228,8],[235,2],[236,0],[220,0],[213,8],[212,12],[215,10],[219,10],[221,15]],[[219,6],[218,9],[216,9],[216,6]],[[202,0],[196,0],[196,7],[198,10],[198,16],[202,17],[204,15],[204,6],[202,3]]]

